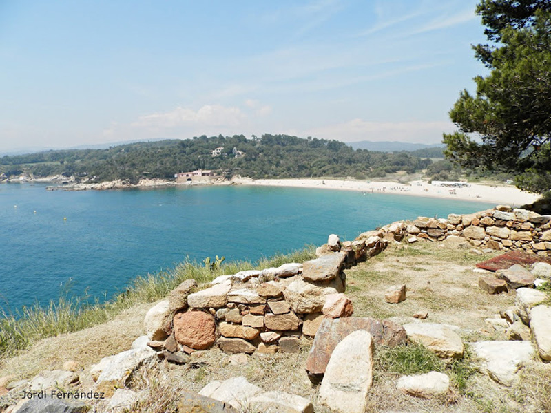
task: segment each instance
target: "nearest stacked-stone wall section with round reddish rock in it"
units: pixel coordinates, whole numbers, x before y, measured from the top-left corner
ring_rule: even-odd
[[[342,250],[338,237],[337,244]],[[360,257],[361,251],[366,255],[366,242],[355,245]],[[346,288],[343,269],[357,250],[344,248],[304,264],[218,277],[196,293],[193,280],[183,283],[147,313],[149,346],[169,361],[182,359],[174,354],[215,343],[227,353],[298,352],[300,336],[314,336],[324,316],[352,314],[351,302],[341,293]]]

